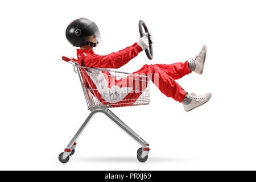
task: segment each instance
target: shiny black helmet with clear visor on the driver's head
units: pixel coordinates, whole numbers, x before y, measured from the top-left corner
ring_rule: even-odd
[[[66,29],[66,38],[68,39],[68,42],[75,47],[86,45],[96,47],[96,43],[86,39],[86,36],[89,35],[96,35],[97,42],[101,40],[100,31],[98,30],[97,25],[87,18],[73,20],[73,22],[69,23]]]

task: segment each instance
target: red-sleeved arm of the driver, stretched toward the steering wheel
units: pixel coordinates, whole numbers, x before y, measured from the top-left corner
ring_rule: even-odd
[[[132,46],[126,47],[118,52],[110,53],[109,55],[84,57],[81,64],[89,68],[120,68],[136,57],[141,51],[142,48],[137,43],[134,43]]]

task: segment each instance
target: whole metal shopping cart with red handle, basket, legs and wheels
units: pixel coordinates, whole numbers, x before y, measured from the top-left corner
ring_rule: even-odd
[[[150,78],[146,75],[119,72],[113,69],[81,67],[76,59],[69,59],[65,56],[62,59],[71,63],[74,71],[78,73],[88,109],[91,113],[85,119],[85,122],[72,138],[71,142],[69,142],[64,152],[59,155],[60,162],[67,163],[69,156],[74,154],[77,139],[96,113],[104,113],[141,144],[142,147],[137,151],[137,159],[140,162],[145,162],[150,151],[149,144],[131,130],[109,108],[149,104]]]

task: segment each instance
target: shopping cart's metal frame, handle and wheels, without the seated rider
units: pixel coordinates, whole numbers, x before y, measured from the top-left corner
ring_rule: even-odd
[[[69,156],[73,155],[75,152],[76,147],[76,141],[80,137],[82,131],[84,131],[86,125],[89,123],[90,119],[92,119],[93,115],[96,113],[104,113],[108,118],[110,118],[115,124],[117,124],[123,131],[125,131],[128,135],[130,135],[131,138],[133,138],[136,142],[138,142],[142,147],[138,149],[137,151],[137,159],[140,162],[145,162],[148,158],[148,153],[150,152],[150,148],[148,147],[149,144],[143,140],[141,137],[139,137],[138,134],[136,134],[132,129],[130,129],[129,126],[127,126],[120,118],[117,117],[112,111],[110,111],[110,107],[123,107],[123,106],[135,106],[135,105],[146,105],[149,104],[149,78],[144,75],[136,75],[133,73],[126,73],[126,72],[119,72],[115,71],[113,69],[101,69],[101,68],[87,68],[87,67],[81,67],[76,59],[69,59],[68,57],[63,56],[62,59],[64,61],[67,61],[68,63],[71,63],[73,65],[74,71],[78,73],[81,85],[85,94],[85,99],[88,105],[88,109],[91,111],[91,113],[88,115],[88,117],[85,119],[84,123],[82,123],[82,126],[77,131],[75,136],[71,139],[71,142],[65,147],[64,152],[61,152],[59,155],[59,160],[61,163],[67,163],[69,160]],[[125,104],[116,104],[116,103],[109,103],[107,101],[103,101],[99,99],[98,93],[96,93],[96,89],[93,88],[93,82],[92,80],[88,80],[88,77],[85,76],[85,74],[89,74],[90,71],[94,71],[94,74],[99,75],[103,72],[111,73],[111,76],[114,76],[115,78],[126,78],[127,76],[132,76],[130,79],[139,79],[143,80],[147,85],[145,90],[140,90],[141,96],[137,98],[137,100],[133,103],[130,103],[129,99],[125,101]],[[97,76],[96,75],[96,76]],[[109,76],[109,75],[108,75]],[[134,91],[134,90],[133,90]],[[106,102],[106,103],[104,103]]]

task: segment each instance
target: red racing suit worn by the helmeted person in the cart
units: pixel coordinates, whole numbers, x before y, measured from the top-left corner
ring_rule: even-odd
[[[141,51],[142,48],[138,46],[137,43],[134,43],[132,46],[126,47],[125,49],[122,49],[118,52],[113,52],[109,55],[104,56],[97,55],[96,53],[94,53],[93,49],[77,49],[77,60],[82,67],[120,68],[128,63],[135,56],[137,56]],[[175,80],[183,77],[184,75],[188,75],[189,73],[191,73],[191,71],[188,67],[188,61],[185,61],[185,63],[174,64],[145,64],[141,69],[133,73],[138,75],[150,75],[151,81],[154,82],[156,86],[158,86],[159,90],[163,94],[165,94],[167,97],[174,98],[174,100],[181,102],[185,98],[186,93],[185,90],[181,88],[181,86],[177,84]],[[105,74],[108,75],[109,73]],[[88,75],[86,77],[90,80],[90,82],[92,82]],[[155,81],[156,77],[158,78],[157,83]],[[107,80],[109,88],[111,88],[113,84],[119,86],[120,88],[122,88],[123,85],[127,85],[127,80],[125,79],[121,79],[118,81],[113,81],[113,79]],[[140,85],[139,89],[143,92],[143,90],[146,89],[146,86]],[[98,89],[97,86],[94,84],[93,87],[96,90]],[[127,98],[129,98],[130,101],[128,105],[130,105],[130,103],[132,104],[137,100],[142,92],[129,93],[125,98],[123,98],[123,101],[118,101],[117,104],[127,104],[126,100]],[[101,94],[97,93],[96,97],[99,101],[105,102]],[[105,103],[108,104],[108,102]]]

